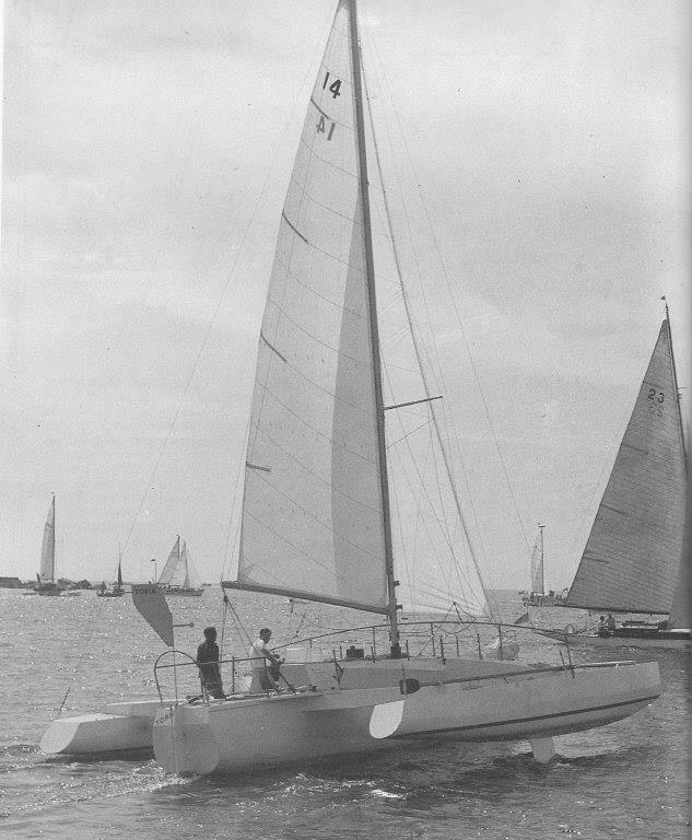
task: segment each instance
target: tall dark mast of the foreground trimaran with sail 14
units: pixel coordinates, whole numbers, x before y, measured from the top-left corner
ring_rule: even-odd
[[[359,158],[359,178],[361,205],[363,209],[363,234],[365,240],[365,279],[371,327],[371,353],[373,359],[375,416],[377,422],[377,451],[379,457],[379,482],[383,502],[383,524],[385,535],[385,572],[387,575],[387,615],[391,655],[400,656],[399,627],[397,620],[397,582],[394,576],[394,551],[391,542],[391,515],[389,508],[389,481],[387,477],[387,454],[385,442],[385,405],[382,386],[382,360],[379,354],[379,331],[377,328],[377,298],[375,292],[375,260],[373,257],[373,236],[371,228],[370,195],[367,186],[367,154],[365,149],[365,120],[363,117],[363,83],[361,51],[357,35],[356,0],[349,0],[351,22],[351,60],[353,65],[353,95],[355,100],[355,132]]]

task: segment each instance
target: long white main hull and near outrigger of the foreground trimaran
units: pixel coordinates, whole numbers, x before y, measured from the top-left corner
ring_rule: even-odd
[[[421,688],[403,697],[402,676],[419,680]],[[371,679],[383,685],[365,687]],[[552,735],[626,718],[659,693],[657,663],[572,669],[456,661],[427,670],[418,662],[414,667],[396,661],[347,665],[340,688],[162,710],[154,722],[154,755],[171,772],[211,773],[373,751],[420,738],[526,738],[540,745]]]

